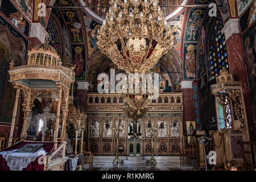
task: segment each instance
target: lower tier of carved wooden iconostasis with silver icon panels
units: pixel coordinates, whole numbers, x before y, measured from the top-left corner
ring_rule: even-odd
[[[119,133],[119,154],[150,155],[151,138],[146,131],[148,121],[156,127],[154,136],[155,155],[178,155],[184,144],[182,113],[150,113],[137,123],[137,138],[131,137],[130,126],[133,121],[121,114],[88,113],[88,150],[96,155],[114,155],[116,150],[113,126],[121,121],[122,131]],[[131,125],[130,125],[131,123]],[[134,126],[132,126],[134,131]]]

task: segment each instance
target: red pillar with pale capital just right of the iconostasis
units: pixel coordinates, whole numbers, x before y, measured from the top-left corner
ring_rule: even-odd
[[[181,91],[183,93],[183,128],[186,129],[186,121],[195,121],[195,112],[193,104],[193,81],[181,81]]]

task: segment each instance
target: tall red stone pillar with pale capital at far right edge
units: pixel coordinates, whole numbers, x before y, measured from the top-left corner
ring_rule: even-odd
[[[254,127],[253,109],[250,98],[249,84],[247,81],[246,63],[243,55],[243,45],[239,29],[239,19],[229,19],[222,29],[226,39],[226,50],[229,61],[229,73],[232,74],[237,81],[242,82],[242,90],[245,98],[245,109],[247,114],[247,122],[250,129],[250,139],[255,140],[256,133],[251,130]]]

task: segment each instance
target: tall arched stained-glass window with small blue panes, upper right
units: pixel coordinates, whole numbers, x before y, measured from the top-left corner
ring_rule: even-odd
[[[221,32],[222,20],[218,16],[212,28],[212,35],[209,41],[209,61],[210,61],[210,76],[213,79],[220,75],[222,68],[228,70],[228,56],[226,53],[225,35]]]

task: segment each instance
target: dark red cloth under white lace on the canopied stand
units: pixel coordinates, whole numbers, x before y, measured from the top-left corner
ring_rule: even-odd
[[[47,154],[52,152],[53,146],[54,146],[54,142],[27,142],[27,141],[25,142],[25,141],[20,141],[20,142],[14,144],[14,146],[6,148],[6,150],[3,150],[3,151],[15,150],[15,149],[23,147],[27,143],[31,143],[31,144],[33,144],[33,143],[38,143],[38,144],[43,143],[43,148],[47,152]],[[40,158],[40,156],[38,158]],[[34,162],[28,164],[28,166],[26,168],[23,168],[22,171],[43,171],[44,170],[44,164],[38,164],[38,158],[36,158],[36,160]],[[5,159],[3,158],[3,156],[1,154],[0,154],[0,171],[10,171],[9,166],[7,166],[7,162],[5,161]]]

